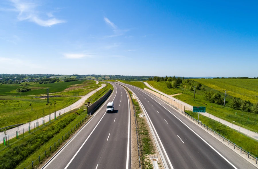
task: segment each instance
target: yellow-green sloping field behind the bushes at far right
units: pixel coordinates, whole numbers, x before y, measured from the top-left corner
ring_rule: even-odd
[[[212,89],[222,91],[228,90],[227,94],[258,102],[258,79],[194,79]],[[222,91],[223,92],[223,91]]]

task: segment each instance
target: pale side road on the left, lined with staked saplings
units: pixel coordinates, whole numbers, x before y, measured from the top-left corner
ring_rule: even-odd
[[[101,84],[101,87],[99,87],[98,89],[96,90],[93,90],[91,91],[90,93],[88,93],[87,95],[83,96],[80,100],[78,100],[77,102],[73,103],[72,105],[68,106],[68,107],[65,107],[61,110],[58,110],[56,111],[56,117],[58,117],[59,115],[59,112],[60,112],[60,115],[64,114],[64,113],[67,113],[68,111],[70,110],[73,110],[73,109],[77,109],[79,108],[79,106],[82,106],[85,102],[85,100],[87,100],[91,95],[93,95],[96,91],[99,91],[100,89],[102,89],[103,87],[105,87],[106,84]],[[45,119],[46,122],[49,121],[49,115],[46,115],[45,117],[41,117],[38,119],[38,122],[39,122],[39,125],[42,125],[43,124],[43,119]],[[51,113],[51,119],[54,119],[54,113]],[[37,120],[34,120],[30,123],[31,125],[31,129],[34,129],[34,124],[35,124],[35,127],[36,127],[36,123],[37,123]],[[29,131],[29,123],[25,123],[23,125],[20,125],[19,126],[19,131],[20,131],[20,134],[22,134],[22,132],[27,132]],[[11,138],[14,138],[16,137],[16,131],[17,131],[17,127],[15,128],[12,128],[12,129],[9,129],[6,131],[6,136],[9,135],[9,139]],[[4,132],[1,132],[0,133],[0,138],[3,138],[5,136]],[[0,139],[0,144],[3,143],[3,139]]]

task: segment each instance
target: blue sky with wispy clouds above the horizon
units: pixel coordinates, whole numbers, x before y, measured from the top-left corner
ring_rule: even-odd
[[[0,73],[258,76],[255,1],[0,1]]]

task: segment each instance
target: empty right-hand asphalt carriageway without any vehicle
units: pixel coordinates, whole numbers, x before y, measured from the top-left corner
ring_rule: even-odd
[[[169,105],[142,89],[123,85],[142,105],[165,168],[256,168]]]

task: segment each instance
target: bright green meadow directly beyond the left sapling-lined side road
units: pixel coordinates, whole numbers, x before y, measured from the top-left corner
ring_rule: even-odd
[[[43,117],[43,108],[45,115],[67,107],[76,101],[79,97],[54,97],[50,98],[52,104],[48,104],[46,99],[33,97],[0,97],[0,128],[19,123],[26,123],[31,118],[35,120]],[[56,104],[54,104],[56,103]],[[31,108],[32,107],[32,108]],[[33,110],[32,110],[33,109]]]

